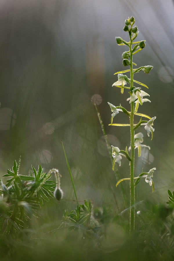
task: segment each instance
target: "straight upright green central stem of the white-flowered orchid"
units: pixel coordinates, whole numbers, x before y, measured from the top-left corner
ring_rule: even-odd
[[[130,69],[131,69],[131,90],[133,88],[133,63],[132,63],[132,39],[130,36]],[[130,206],[133,206],[135,204],[135,186],[134,186],[134,158],[135,158],[135,141],[134,141],[134,102],[131,102],[131,116],[130,116],[130,130],[131,130],[131,162],[130,162],[130,192],[131,192],[131,200],[130,200]],[[130,233],[134,231],[134,223],[135,223],[135,208],[132,207],[130,209]]]

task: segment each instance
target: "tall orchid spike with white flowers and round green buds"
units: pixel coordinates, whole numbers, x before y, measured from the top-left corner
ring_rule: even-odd
[[[126,45],[128,46],[129,50],[126,52],[123,52],[122,58],[123,58],[123,65],[124,66],[130,66],[130,69],[128,70],[123,70],[119,71],[115,74],[118,74],[118,81],[116,81],[113,86],[116,86],[118,88],[121,88],[121,93],[123,94],[124,89],[129,90],[130,97],[127,99],[129,103],[131,104],[131,111],[127,111],[125,108],[121,106],[114,106],[113,104],[108,104],[110,105],[111,111],[113,112],[111,115],[111,124],[112,126],[130,126],[130,131],[131,131],[131,146],[129,147],[129,151],[131,151],[131,156],[128,153],[127,146],[125,151],[120,150],[118,147],[112,146],[112,155],[113,155],[113,170],[114,170],[114,164],[117,162],[119,166],[121,165],[121,159],[122,156],[126,157],[130,161],[130,177],[129,178],[124,178],[121,179],[117,182],[116,186],[122,182],[123,180],[130,180],[130,193],[131,193],[131,199],[130,199],[130,233],[133,232],[134,230],[134,224],[135,224],[135,209],[134,209],[134,204],[135,204],[135,186],[138,184],[140,179],[142,177],[145,177],[145,181],[149,183],[150,186],[153,187],[154,190],[154,184],[153,184],[153,172],[156,168],[152,168],[148,172],[143,172],[138,176],[134,177],[134,165],[135,165],[135,148],[138,148],[138,156],[141,155],[141,147],[147,147],[150,149],[149,146],[143,145],[143,134],[141,132],[135,134],[135,130],[139,128],[140,126],[144,125],[145,130],[147,131],[147,135],[151,133],[152,139],[153,139],[153,132],[154,128],[153,126],[153,121],[156,117],[149,117],[148,115],[142,114],[142,113],[137,113],[139,104],[143,104],[144,102],[151,102],[149,99],[143,98],[144,96],[150,96],[148,93],[144,92],[141,90],[140,87],[135,87],[133,86],[133,83],[142,85],[146,88],[148,88],[145,84],[134,80],[133,76],[135,73],[139,73],[140,71],[144,71],[145,73],[149,73],[153,66],[147,65],[147,66],[141,66],[139,68],[133,68],[134,66],[137,66],[135,63],[133,63],[133,55],[137,54],[139,51],[141,51],[146,45],[144,41],[134,41],[138,35],[137,31],[137,26],[134,26],[135,19],[134,17],[128,18],[125,21],[125,26],[123,30],[125,32],[128,32],[130,41],[126,42],[124,41],[121,37],[116,37],[117,44],[122,46]],[[135,46],[133,46],[135,45]],[[128,78],[124,73],[130,72],[130,78]],[[126,87],[126,84],[129,84],[130,87]],[[119,113],[119,111],[124,112],[126,115],[129,117],[129,124],[118,124],[118,123],[113,123],[113,118],[115,115]],[[139,115],[141,118],[139,120],[138,124],[134,123],[134,115]],[[142,120],[142,117],[148,119],[148,120]],[[136,180],[134,182],[134,180]]]

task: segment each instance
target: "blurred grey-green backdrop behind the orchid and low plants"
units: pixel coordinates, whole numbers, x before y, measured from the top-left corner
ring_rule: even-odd
[[[155,191],[142,180],[136,201],[166,202],[167,190],[174,190],[173,14],[172,0],[1,0],[0,175],[21,155],[21,174],[28,175],[31,164],[41,164],[46,172],[58,168],[64,200],[75,200],[62,139],[78,199],[90,199],[95,206],[115,204],[112,185],[120,211],[125,208],[91,98],[97,100],[110,145],[129,147],[129,127],[108,126],[107,102],[130,110],[128,92],[122,95],[112,84],[114,73],[124,70],[121,55],[128,50],[115,37],[128,41],[124,21],[134,16],[137,41],[146,40],[134,62],[154,66],[149,75],[141,71],[134,77],[149,87],[151,100],[139,112],[157,117],[152,141],[143,126],[137,131],[151,150],[142,150],[138,159],[136,151],[135,175],[142,167],[157,170]],[[113,122],[127,123],[128,118],[119,113]],[[129,177],[126,158],[118,172]],[[129,182],[122,185],[129,200]],[[60,204],[62,211],[76,205]]]

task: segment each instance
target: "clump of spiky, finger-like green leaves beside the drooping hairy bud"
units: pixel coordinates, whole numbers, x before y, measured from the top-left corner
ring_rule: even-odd
[[[32,166],[32,175],[20,175],[21,158],[14,161],[12,170],[3,177],[11,177],[7,184],[0,180],[0,228],[3,235],[12,234],[15,237],[22,228],[28,227],[32,215],[40,217],[37,211],[43,207],[43,200],[49,201],[54,197],[55,183],[48,180],[51,174],[44,173],[39,165],[38,171]]]

